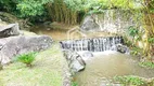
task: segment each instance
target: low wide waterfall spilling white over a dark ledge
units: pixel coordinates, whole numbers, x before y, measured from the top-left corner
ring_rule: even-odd
[[[69,40],[61,41],[61,47],[63,51],[70,49],[75,52],[104,52],[104,51],[117,51],[117,44],[124,44],[121,37],[102,37],[93,39]]]

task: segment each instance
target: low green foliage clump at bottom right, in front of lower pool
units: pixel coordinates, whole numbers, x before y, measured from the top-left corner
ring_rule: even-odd
[[[121,84],[125,84],[126,86],[131,86],[131,85],[140,86],[144,84],[144,82],[140,77],[132,76],[132,75],[115,76],[114,80]]]

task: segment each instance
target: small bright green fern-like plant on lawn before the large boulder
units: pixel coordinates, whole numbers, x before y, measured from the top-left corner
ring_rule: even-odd
[[[35,57],[36,53],[28,53],[28,54],[18,55],[16,57],[16,60],[25,63],[27,67],[31,67],[31,62],[35,60]]]

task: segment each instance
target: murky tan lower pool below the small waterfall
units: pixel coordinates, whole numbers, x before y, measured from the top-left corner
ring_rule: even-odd
[[[86,63],[85,71],[74,76],[79,86],[103,86],[104,81],[108,82],[107,80],[121,75],[154,77],[154,70],[141,68],[134,57],[117,52],[97,54],[95,57],[86,60]]]

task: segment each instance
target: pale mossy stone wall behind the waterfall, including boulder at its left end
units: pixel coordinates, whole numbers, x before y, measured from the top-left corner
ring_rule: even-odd
[[[140,18],[140,13],[136,11],[104,10],[101,14],[87,15],[80,28],[86,32],[126,33],[130,27],[142,28]]]

